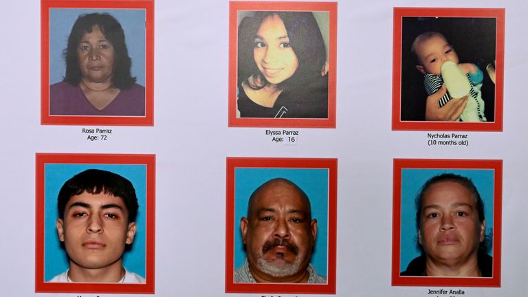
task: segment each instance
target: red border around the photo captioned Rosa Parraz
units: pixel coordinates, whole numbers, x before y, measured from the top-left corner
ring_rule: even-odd
[[[145,10],[145,116],[50,115],[50,8]],[[41,0],[41,124],[154,125],[154,0]]]

